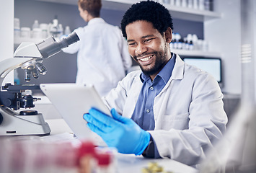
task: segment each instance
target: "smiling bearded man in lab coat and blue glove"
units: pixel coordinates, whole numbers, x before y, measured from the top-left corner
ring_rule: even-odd
[[[226,131],[219,84],[171,52],[172,17],[162,4],[133,4],[121,29],[142,72],[132,71],[103,98],[112,116],[93,107],[84,114],[87,126],[120,153],[200,164]]]

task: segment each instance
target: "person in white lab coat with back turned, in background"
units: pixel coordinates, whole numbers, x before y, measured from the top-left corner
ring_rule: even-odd
[[[80,16],[87,26],[74,32],[80,41],[64,48],[77,52],[77,84],[93,84],[101,96],[117,86],[132,65],[128,45],[117,26],[100,18],[101,0],[79,0]]]

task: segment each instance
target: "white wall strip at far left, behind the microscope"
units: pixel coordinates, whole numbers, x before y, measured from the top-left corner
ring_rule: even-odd
[[[3,61],[12,58],[14,52],[14,0],[0,0],[0,22],[0,61]],[[12,81],[13,73],[10,73],[4,83]]]

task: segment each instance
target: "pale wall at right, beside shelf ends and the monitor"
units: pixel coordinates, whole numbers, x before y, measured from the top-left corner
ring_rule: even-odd
[[[205,38],[211,40],[209,49],[221,53],[223,60],[223,92],[241,93],[241,13],[240,0],[215,0],[214,9],[221,19],[204,23]]]

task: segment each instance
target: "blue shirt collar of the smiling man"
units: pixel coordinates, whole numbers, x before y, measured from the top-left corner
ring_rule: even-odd
[[[176,55],[175,53],[172,53],[172,58],[167,62],[167,64],[165,64],[164,68],[162,68],[159,74],[156,75],[155,79],[159,76],[163,79],[164,83],[167,84],[167,81],[169,81],[169,78],[172,76],[172,70],[175,66],[175,59]],[[142,83],[144,83],[144,81],[151,80],[149,75],[146,75],[143,72],[141,73],[140,79]]]

